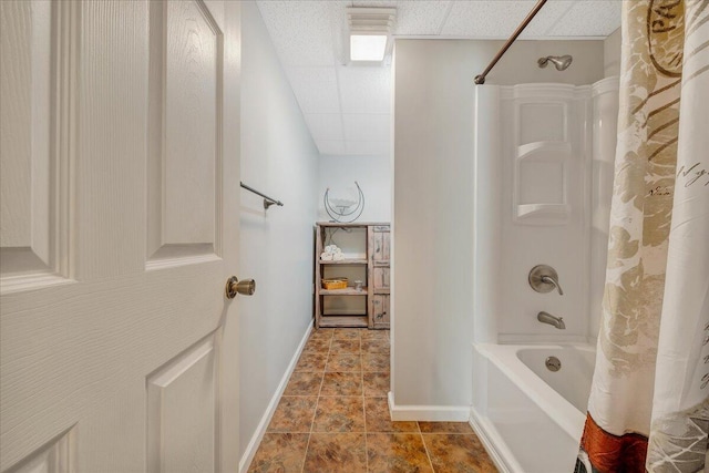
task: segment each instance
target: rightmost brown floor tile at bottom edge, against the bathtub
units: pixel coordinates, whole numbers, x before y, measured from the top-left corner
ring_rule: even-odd
[[[496,473],[474,433],[424,433],[423,442],[436,473]]]

